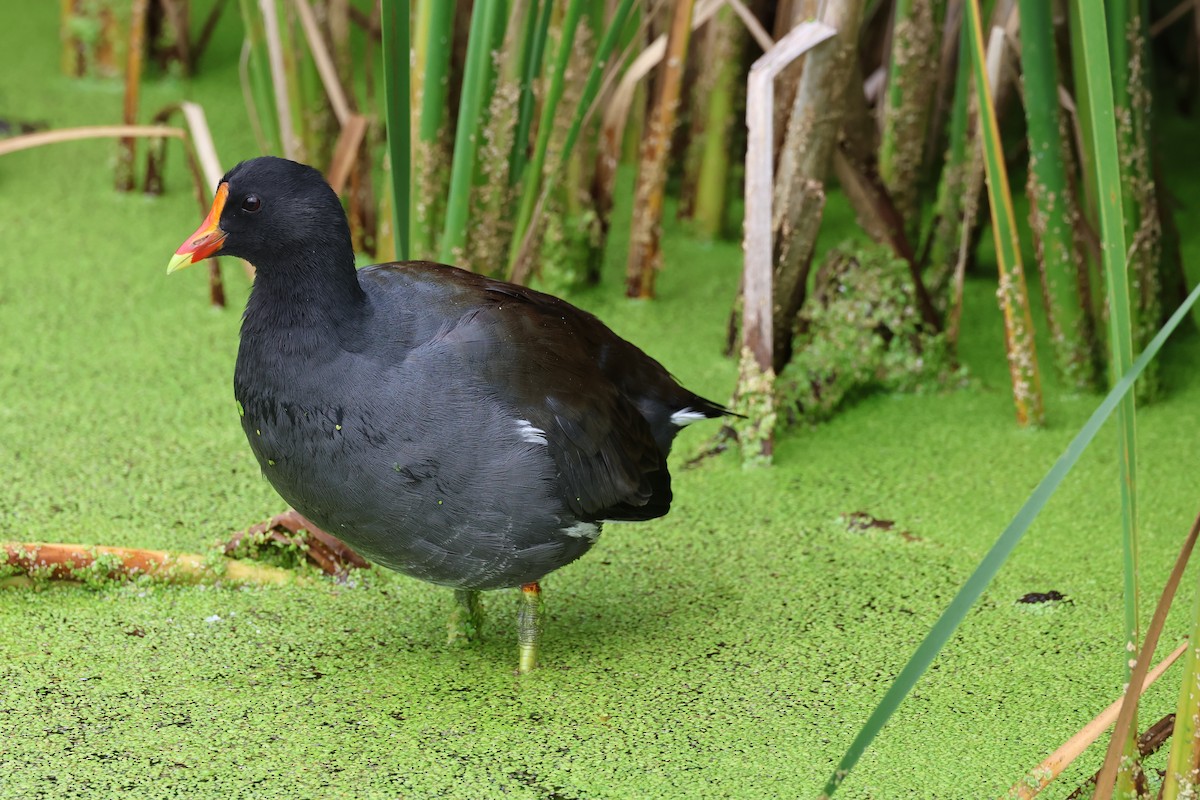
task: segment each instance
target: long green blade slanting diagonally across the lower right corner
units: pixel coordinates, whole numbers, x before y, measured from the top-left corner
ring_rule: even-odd
[[[1082,1],[1086,2],[1087,0]],[[907,697],[908,692],[911,692],[913,686],[917,685],[917,681],[929,668],[929,664],[932,663],[934,658],[966,618],[967,612],[976,603],[976,601],[979,600],[979,596],[983,595],[988,584],[991,583],[991,579],[996,577],[1000,567],[1004,565],[1009,554],[1012,554],[1013,549],[1021,541],[1025,531],[1028,530],[1031,524],[1033,524],[1038,513],[1040,513],[1042,509],[1045,507],[1051,495],[1054,495],[1055,491],[1057,491],[1058,486],[1075,467],[1080,456],[1084,455],[1087,446],[1093,439],[1096,439],[1096,434],[1100,432],[1100,428],[1108,421],[1109,416],[1111,416],[1114,409],[1118,408],[1129,396],[1134,383],[1138,380],[1138,375],[1140,375],[1146,368],[1146,365],[1153,361],[1154,356],[1158,355],[1163,343],[1166,342],[1171,333],[1175,332],[1175,329],[1178,327],[1180,323],[1188,315],[1188,312],[1192,309],[1192,306],[1195,305],[1198,299],[1200,299],[1200,285],[1196,285],[1192,290],[1188,299],[1183,301],[1174,314],[1171,314],[1171,318],[1166,320],[1166,324],[1163,325],[1162,330],[1159,330],[1154,338],[1150,342],[1146,350],[1138,356],[1138,360],[1133,362],[1133,366],[1112,385],[1108,396],[1096,408],[1092,416],[1084,423],[1084,427],[1080,428],[1078,434],[1075,434],[1075,438],[1072,439],[1070,444],[1067,445],[1067,449],[1063,451],[1062,456],[1058,457],[1058,461],[1055,462],[1050,471],[1046,473],[1045,477],[1043,477],[1037,485],[1028,499],[1025,500],[1020,511],[1016,512],[1016,516],[1013,517],[1013,521],[1008,523],[1007,528],[1004,528],[1000,539],[996,540],[996,543],[992,545],[991,549],[988,551],[988,554],[984,555],[979,566],[976,567],[974,572],[971,573],[971,577],[967,578],[966,583],[962,584],[962,588],[959,589],[959,593],[954,596],[954,600],[950,601],[950,604],[947,606],[946,610],[942,612],[942,615],[934,624],[934,627],[925,634],[925,638],[917,648],[917,651],[913,652],[908,663],[906,663],[904,669],[900,670],[900,674],[896,675],[895,681],[888,688],[887,693],[884,693],[883,699],[880,700],[880,704],[866,720],[866,723],[858,732],[858,735],[854,736],[854,740],[851,742],[846,754],[842,756],[841,760],[838,763],[836,771],[826,783],[822,798],[830,796],[838,789],[841,782],[858,763],[858,759],[862,757],[866,747],[871,744],[875,736],[878,735],[883,726],[887,724],[887,721],[895,712],[896,708],[899,708],[904,698]]]

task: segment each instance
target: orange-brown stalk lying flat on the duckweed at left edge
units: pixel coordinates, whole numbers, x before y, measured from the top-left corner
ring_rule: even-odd
[[[298,576],[287,570],[194,553],[143,551],[98,545],[4,542],[4,566],[16,571],[0,585],[34,585],[38,578],[52,581],[133,581],[143,576],[167,583],[287,584]],[[28,577],[26,577],[28,576]]]

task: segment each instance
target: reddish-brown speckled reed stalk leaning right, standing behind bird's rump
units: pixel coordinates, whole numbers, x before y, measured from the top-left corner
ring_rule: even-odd
[[[629,261],[625,269],[625,296],[649,300],[654,276],[662,265],[662,197],[667,184],[667,157],[679,110],[679,92],[688,64],[691,13],[695,0],[676,0],[667,34],[666,60],[658,78],[658,95],[650,122],[642,136],[634,188],[634,221],[629,231]]]

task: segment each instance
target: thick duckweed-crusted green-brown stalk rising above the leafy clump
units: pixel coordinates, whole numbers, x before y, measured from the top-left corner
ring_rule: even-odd
[[[920,228],[920,187],[925,140],[937,82],[938,34],[946,0],[896,0],[892,60],[883,95],[880,176],[888,187],[905,231]]]

